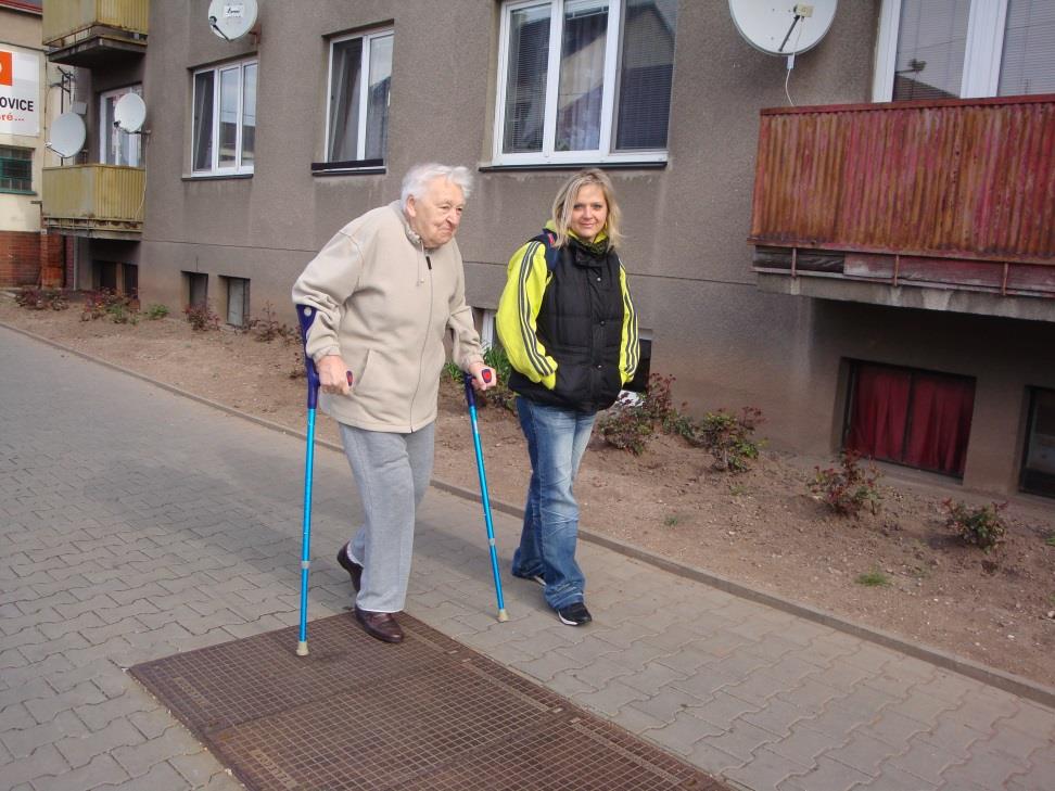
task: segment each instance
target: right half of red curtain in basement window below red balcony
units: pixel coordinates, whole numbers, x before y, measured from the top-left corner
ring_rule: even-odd
[[[905,463],[963,475],[974,409],[974,382],[917,373],[913,378]]]

